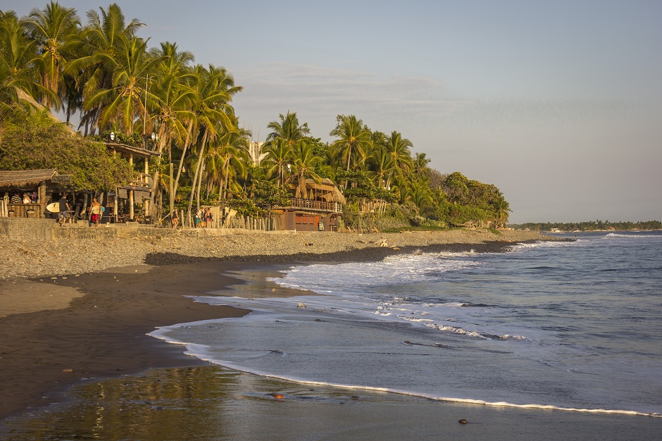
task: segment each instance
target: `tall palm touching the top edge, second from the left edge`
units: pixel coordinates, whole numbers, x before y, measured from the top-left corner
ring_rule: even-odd
[[[34,8],[25,20],[25,28],[38,44],[35,59],[41,73],[41,84],[52,94],[42,97],[47,108],[62,107],[63,72],[79,34],[80,20],[74,8],[65,8],[51,1],[43,10]]]

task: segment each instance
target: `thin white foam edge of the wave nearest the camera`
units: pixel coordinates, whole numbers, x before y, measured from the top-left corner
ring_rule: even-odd
[[[432,399],[439,402],[480,404],[483,406],[513,407],[518,409],[545,409],[545,410],[558,410],[558,411],[585,412],[591,414],[620,414],[620,415],[651,416],[655,418],[662,418],[662,413],[658,413],[658,412],[649,413],[649,412],[641,412],[641,411],[630,411],[625,409],[582,409],[578,407],[564,407],[564,406],[556,406],[551,404],[516,404],[509,402],[489,402],[483,399],[472,399],[472,398],[461,398],[461,397],[439,397],[436,395],[429,395],[420,392],[411,392],[408,390],[393,389],[390,387],[345,385],[341,383],[332,383],[328,381],[308,380],[306,378],[297,378],[287,375],[275,375],[268,372],[260,371],[258,369],[246,368],[246,366],[241,366],[239,364],[233,363],[232,361],[213,359],[205,354],[206,346],[204,344],[188,344],[186,342],[172,341],[166,338],[165,335],[163,335],[163,332],[161,331],[162,329],[167,330],[168,328],[169,327],[157,328],[156,331],[149,333],[147,335],[158,338],[159,340],[165,340],[169,343],[186,345],[187,350],[185,351],[185,354],[189,356],[194,356],[196,359],[200,359],[202,361],[206,361],[211,364],[216,364],[218,366],[224,366],[225,368],[232,369],[233,371],[251,373],[253,375],[260,375],[261,377],[264,378],[273,378],[275,380],[282,380],[290,383],[299,383],[302,385],[337,387],[340,389],[368,390],[370,392],[389,392],[398,395],[407,395],[410,397],[421,397],[425,399]]]

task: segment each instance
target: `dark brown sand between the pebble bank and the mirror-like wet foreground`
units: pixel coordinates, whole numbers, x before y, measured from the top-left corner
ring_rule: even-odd
[[[48,404],[44,394],[83,378],[203,364],[146,333],[155,326],[248,312],[184,297],[237,282],[220,274],[237,267],[223,263],[221,268],[218,262],[143,265],[0,281],[0,419]]]

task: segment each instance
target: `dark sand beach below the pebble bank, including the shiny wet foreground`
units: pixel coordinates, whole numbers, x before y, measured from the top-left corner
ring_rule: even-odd
[[[380,259],[385,250],[316,260]],[[661,418],[285,383],[206,364],[146,335],[157,326],[249,312],[186,296],[296,294],[265,280],[296,259],[238,260],[152,254],[144,265],[0,280],[0,438],[652,440],[661,433]]]

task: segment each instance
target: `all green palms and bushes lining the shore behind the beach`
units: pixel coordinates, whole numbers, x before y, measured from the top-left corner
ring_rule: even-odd
[[[355,115],[338,115],[332,140],[322,142],[296,113],[280,114],[268,123],[257,164],[232,106],[242,91],[232,74],[196,64],[175,42],[150,47],[138,36],[142,26],[117,4],[87,11],[85,20],[55,1],[23,18],[0,11],[0,169],[57,168],[75,175],[79,190],[111,188],[132,173],[103,151],[113,132],[159,154],[150,173],[164,216],[170,197],[189,219],[201,204],[261,216],[288,195],[306,198],[306,180],[327,178],[342,188],[350,226],[508,222],[511,209],[496,186],[430,168],[404,134],[373,130]],[[51,118],[55,112],[65,123]],[[72,130],[73,119],[80,125]],[[44,142],[48,131],[58,142]]]

